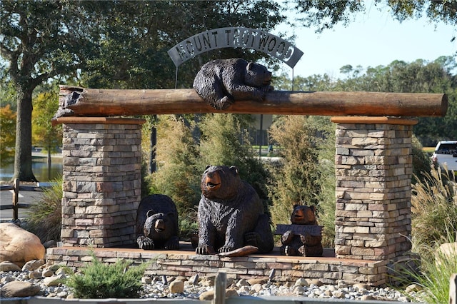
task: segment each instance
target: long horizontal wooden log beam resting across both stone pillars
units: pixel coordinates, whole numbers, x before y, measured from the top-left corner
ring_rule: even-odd
[[[445,116],[441,93],[271,91],[265,100],[209,106],[193,88],[118,90],[61,86],[61,116],[132,116],[178,113],[263,113],[323,116]]]

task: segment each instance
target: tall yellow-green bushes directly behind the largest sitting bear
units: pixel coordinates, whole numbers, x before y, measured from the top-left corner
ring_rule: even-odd
[[[159,116],[156,162],[147,177],[150,193],[170,196],[176,203],[181,231],[195,229],[201,174],[207,165],[237,166],[240,176],[256,188],[268,206],[266,169],[254,156],[248,136],[248,116],[208,114],[188,117]]]

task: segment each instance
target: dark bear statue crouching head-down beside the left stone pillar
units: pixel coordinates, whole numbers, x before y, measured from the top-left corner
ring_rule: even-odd
[[[178,212],[163,194],[146,196],[136,213],[136,243],[140,249],[179,249]]]

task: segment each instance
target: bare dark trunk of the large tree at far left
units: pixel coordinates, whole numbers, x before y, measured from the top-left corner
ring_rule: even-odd
[[[14,153],[14,178],[36,181],[31,168],[31,93],[33,90],[18,88],[16,116],[16,151]]]

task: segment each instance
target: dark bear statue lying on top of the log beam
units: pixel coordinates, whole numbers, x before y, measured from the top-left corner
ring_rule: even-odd
[[[236,100],[262,101],[273,91],[271,72],[261,64],[244,59],[217,59],[201,67],[194,79],[195,91],[218,110]]]

